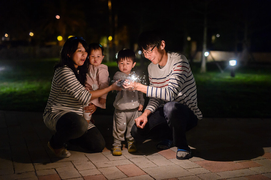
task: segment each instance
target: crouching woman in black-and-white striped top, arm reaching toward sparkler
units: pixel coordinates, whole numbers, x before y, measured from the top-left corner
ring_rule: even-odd
[[[48,146],[60,158],[70,156],[65,148],[65,142],[70,139],[92,152],[102,152],[105,147],[104,138],[97,127],[83,118],[82,104],[87,105],[89,100],[111,90],[121,90],[116,83],[91,93],[85,90],[87,52],[88,44],[82,37],[71,37],[64,43],[60,62],[54,67],[54,78],[43,119],[46,126],[56,132]],[[85,107],[86,112],[95,110],[94,105]]]

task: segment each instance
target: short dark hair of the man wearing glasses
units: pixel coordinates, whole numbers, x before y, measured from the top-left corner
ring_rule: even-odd
[[[164,38],[159,31],[145,31],[139,35],[137,44],[140,51],[143,51],[153,48],[154,46],[159,48],[162,40],[164,40]]]

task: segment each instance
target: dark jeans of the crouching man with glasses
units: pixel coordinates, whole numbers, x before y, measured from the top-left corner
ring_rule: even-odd
[[[134,124],[131,135],[141,142],[146,139],[173,139],[176,147],[186,148],[188,144],[185,133],[197,123],[198,118],[188,107],[178,102],[168,102],[148,117],[143,129]]]

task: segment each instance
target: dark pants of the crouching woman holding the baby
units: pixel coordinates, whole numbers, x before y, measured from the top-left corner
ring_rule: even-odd
[[[79,114],[69,112],[61,116],[56,123],[56,131],[50,139],[50,145],[54,149],[62,148],[70,140],[91,152],[104,150],[105,140],[97,127],[88,130],[87,121]]]

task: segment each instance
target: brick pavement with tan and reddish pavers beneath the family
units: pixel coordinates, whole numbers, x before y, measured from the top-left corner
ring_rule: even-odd
[[[94,115],[106,140],[102,153],[68,144],[69,158],[47,147],[53,132],[40,112],[0,111],[0,180],[271,179],[271,119],[205,118],[187,133],[193,157],[176,159],[177,148],[159,151],[153,140],[138,152],[112,156],[112,116]]]

